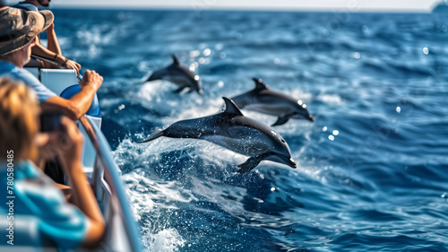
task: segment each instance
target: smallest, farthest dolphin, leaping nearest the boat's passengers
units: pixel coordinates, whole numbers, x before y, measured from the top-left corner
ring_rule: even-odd
[[[202,82],[199,75],[192,74],[184,66],[180,65],[179,60],[175,55],[172,57],[174,61],[173,64],[155,71],[146,82],[165,80],[179,86],[179,88],[174,91],[176,93],[183,91],[185,88],[189,88],[190,90],[188,92],[197,91],[202,95]]]

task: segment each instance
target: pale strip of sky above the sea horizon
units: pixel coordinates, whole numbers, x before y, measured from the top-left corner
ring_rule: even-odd
[[[342,12],[430,12],[442,0],[52,0],[53,8],[243,9]],[[448,0],[444,0],[448,1]],[[5,0],[7,4],[19,1]]]

